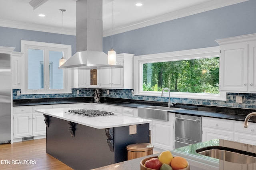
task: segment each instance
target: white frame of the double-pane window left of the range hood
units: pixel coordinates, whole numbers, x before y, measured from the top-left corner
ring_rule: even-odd
[[[42,49],[44,50],[44,63],[49,63],[49,53],[48,51],[64,51],[64,58],[69,59],[72,55],[72,46],[71,45],[63,45],[63,44],[55,44],[55,43],[44,43],[38,41],[20,41],[20,51],[25,53],[24,57],[24,78],[22,82],[21,92],[22,94],[67,94],[72,93],[72,70],[63,69],[63,89],[50,89],[50,77],[46,76],[44,79],[44,84],[49,84],[49,87],[45,87],[44,89],[37,90],[28,90],[28,49]],[[49,69],[48,69],[49,70]],[[46,70],[44,70],[46,73]],[[49,71],[47,71],[48,73]],[[45,74],[48,75],[48,74]]]

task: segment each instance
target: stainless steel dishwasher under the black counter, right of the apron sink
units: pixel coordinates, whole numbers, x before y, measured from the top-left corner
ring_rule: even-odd
[[[174,148],[201,142],[201,117],[175,114]]]

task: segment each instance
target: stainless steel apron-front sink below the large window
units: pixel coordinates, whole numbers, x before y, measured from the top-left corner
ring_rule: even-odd
[[[158,119],[162,121],[169,121],[168,111],[180,110],[181,108],[176,107],[164,107],[164,106],[148,106],[148,107],[138,107],[138,116]]]

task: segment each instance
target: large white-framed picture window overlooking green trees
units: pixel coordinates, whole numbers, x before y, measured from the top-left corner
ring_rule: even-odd
[[[137,56],[136,95],[160,96],[167,87],[174,98],[226,100],[219,92],[219,47]]]

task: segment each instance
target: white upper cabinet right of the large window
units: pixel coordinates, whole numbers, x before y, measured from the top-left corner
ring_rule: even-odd
[[[256,34],[216,41],[220,44],[220,91],[256,92]]]

